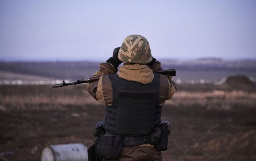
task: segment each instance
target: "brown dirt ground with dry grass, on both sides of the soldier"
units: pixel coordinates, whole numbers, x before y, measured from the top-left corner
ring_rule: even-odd
[[[163,107],[162,120],[171,125],[164,161],[256,160],[255,90],[179,86]],[[37,161],[49,145],[89,147],[104,115],[85,85],[1,85],[0,160]]]

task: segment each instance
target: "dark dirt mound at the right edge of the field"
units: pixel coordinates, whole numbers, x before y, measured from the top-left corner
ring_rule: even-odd
[[[234,88],[242,87],[242,86],[247,86],[247,87],[254,87],[255,86],[255,82],[250,80],[246,75],[230,76],[226,79],[224,84],[227,85],[227,86],[232,86]]]

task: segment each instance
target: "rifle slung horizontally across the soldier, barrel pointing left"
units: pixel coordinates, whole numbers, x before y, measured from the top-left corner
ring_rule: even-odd
[[[171,76],[176,76],[176,69],[170,69],[170,70],[161,70],[161,71],[156,71],[156,73],[158,74],[162,74],[162,75],[171,75]],[[95,82],[97,80],[100,79],[101,76],[97,76],[97,77],[90,77],[87,79],[80,79],[80,80],[76,80],[76,82],[72,82],[72,83],[66,83],[64,80],[62,81],[62,83],[60,84],[54,84],[52,85],[52,88],[58,88],[58,87],[63,87],[63,86],[69,86],[69,85],[76,85],[76,84],[82,84],[82,83],[91,83],[91,82]]]

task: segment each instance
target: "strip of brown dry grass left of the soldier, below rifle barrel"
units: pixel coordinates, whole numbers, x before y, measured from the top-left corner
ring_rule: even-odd
[[[52,89],[49,85],[0,86],[0,110],[54,110],[67,106],[99,105],[85,85]]]

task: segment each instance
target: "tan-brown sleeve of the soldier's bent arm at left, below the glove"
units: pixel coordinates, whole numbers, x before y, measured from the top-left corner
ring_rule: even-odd
[[[118,69],[108,62],[100,63],[100,69],[98,71],[96,71],[96,73],[93,74],[93,77],[108,75],[111,73],[116,74],[117,71],[118,71]],[[87,85],[88,93],[97,101],[102,99],[102,98],[98,98],[101,95],[100,93],[103,92],[102,88],[98,89],[98,86],[99,85],[101,86],[101,84],[102,84],[102,77],[100,77],[100,80],[91,82]]]

